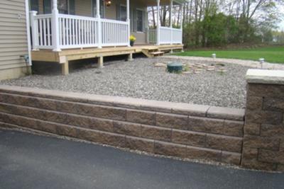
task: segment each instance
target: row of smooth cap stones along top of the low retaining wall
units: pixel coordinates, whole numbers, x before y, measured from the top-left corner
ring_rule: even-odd
[[[150,111],[153,110],[163,113],[222,118],[229,120],[231,118],[231,120],[244,120],[244,109],[238,108],[223,108],[210,105],[153,101],[141,98],[126,98],[119,96],[103,96],[90,93],[75,93],[70,91],[58,91],[44,88],[28,88],[22,86],[0,85],[0,91],[6,91],[8,93],[23,93],[23,95],[39,96],[43,98],[59,98],[60,100],[64,99],[65,101],[113,105],[121,108],[133,108]]]

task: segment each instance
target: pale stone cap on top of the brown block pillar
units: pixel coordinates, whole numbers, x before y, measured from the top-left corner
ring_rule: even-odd
[[[284,70],[249,69],[246,81],[252,84],[284,85]]]

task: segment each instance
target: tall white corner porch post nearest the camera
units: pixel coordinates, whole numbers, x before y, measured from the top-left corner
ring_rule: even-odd
[[[53,33],[53,51],[60,50],[60,41],[59,41],[59,22],[58,22],[58,0],[53,0],[53,18],[52,18],[52,33]]]

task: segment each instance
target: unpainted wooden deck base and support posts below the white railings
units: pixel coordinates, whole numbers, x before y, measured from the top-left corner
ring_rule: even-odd
[[[183,45],[135,45],[134,47],[103,47],[62,50],[53,52],[52,50],[38,50],[31,53],[32,61],[55,62],[62,64],[62,74],[69,73],[69,61],[79,59],[98,58],[98,67],[103,67],[104,57],[116,55],[129,55],[129,60],[136,53],[143,53],[147,57],[151,57],[149,52],[182,50]]]

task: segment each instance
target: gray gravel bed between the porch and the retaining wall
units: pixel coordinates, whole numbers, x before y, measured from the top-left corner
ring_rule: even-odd
[[[170,62],[173,59],[137,58],[133,62],[116,61],[103,69],[75,69],[68,76],[33,75],[0,81],[0,84],[232,108],[245,107],[244,78],[249,67],[225,64],[226,74],[215,71],[169,74],[165,72],[165,68],[153,66],[157,61]],[[180,59],[180,62],[188,61]],[[190,62],[212,63],[204,60]]]

